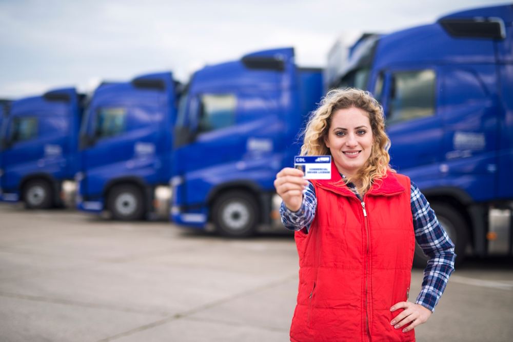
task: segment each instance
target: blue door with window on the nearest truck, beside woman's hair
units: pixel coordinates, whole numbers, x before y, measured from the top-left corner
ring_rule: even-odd
[[[440,70],[418,65],[384,71],[374,85],[381,100],[391,140],[390,164],[398,172],[440,162],[442,118]],[[425,169],[436,175],[437,168]],[[433,174],[434,170],[434,174]]]

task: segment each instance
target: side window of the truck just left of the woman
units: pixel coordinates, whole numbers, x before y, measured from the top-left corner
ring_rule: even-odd
[[[234,95],[203,95],[201,97],[198,133],[232,126],[235,123]]]

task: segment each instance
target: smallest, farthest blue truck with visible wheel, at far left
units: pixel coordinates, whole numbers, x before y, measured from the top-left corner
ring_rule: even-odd
[[[8,105],[0,133],[0,200],[32,209],[62,204],[65,180],[77,169],[84,95],[57,89]],[[3,106],[7,109],[7,106]]]

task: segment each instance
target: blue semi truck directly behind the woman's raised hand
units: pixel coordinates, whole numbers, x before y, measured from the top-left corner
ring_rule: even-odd
[[[321,96],[321,70],[298,68],[292,48],[194,73],[175,124],[171,219],[227,236],[283,229],[273,180]]]

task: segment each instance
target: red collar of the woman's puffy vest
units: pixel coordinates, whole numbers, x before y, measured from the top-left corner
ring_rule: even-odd
[[[342,180],[342,177],[337,169],[337,166],[333,162],[333,157],[331,158],[331,179],[318,179],[315,180],[318,185],[327,190],[339,193],[344,196],[353,196],[356,197],[354,192],[352,192],[347,185]],[[370,190],[367,191],[365,195],[383,195],[383,196],[393,196],[404,192],[405,189],[397,180],[397,177],[390,171],[387,171],[386,176],[381,178],[377,184],[372,184]],[[358,197],[356,197],[358,198]]]

